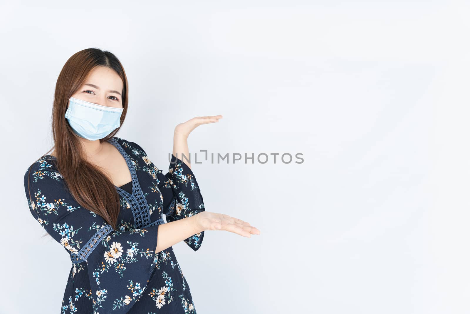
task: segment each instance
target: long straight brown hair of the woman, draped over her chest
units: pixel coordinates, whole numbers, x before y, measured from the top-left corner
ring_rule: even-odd
[[[66,188],[68,188],[73,198],[80,206],[100,215],[116,229],[120,209],[116,187],[100,167],[84,159],[85,152],[80,140],[64,117],[69,98],[85,83],[86,77],[96,66],[106,66],[113,69],[123,81],[121,98],[124,110],[121,115],[121,125],[124,123],[127,112],[128,89],[127,77],[122,64],[114,54],[106,50],[87,48],[78,51],[64,64],[55,84],[54,105],[52,108],[53,148],[55,148],[56,167],[64,177]],[[113,137],[119,129],[120,127],[107,137],[100,139],[100,143]],[[51,150],[52,148],[49,152]],[[31,168],[29,173],[31,174]],[[47,235],[47,233],[44,235]]]

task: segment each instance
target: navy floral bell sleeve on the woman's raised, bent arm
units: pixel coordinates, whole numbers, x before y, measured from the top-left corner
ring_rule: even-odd
[[[167,222],[191,217],[205,210],[201,189],[193,171],[173,154],[165,177],[173,192],[172,202],[164,209]],[[188,237],[184,242],[197,251],[201,247],[203,238],[204,231]]]

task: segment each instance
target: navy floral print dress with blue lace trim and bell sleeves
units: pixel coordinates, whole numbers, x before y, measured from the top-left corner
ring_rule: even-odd
[[[136,143],[119,137],[108,142],[122,154],[132,177],[132,193],[116,186],[116,230],[74,200],[54,156],[41,156],[24,174],[32,216],[71,258],[61,314],[195,314],[172,247],[155,250],[162,215],[171,222],[204,211],[196,177],[174,155],[163,174]],[[196,251],[203,238],[204,231],[184,242]]]

